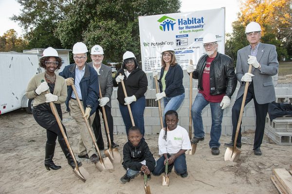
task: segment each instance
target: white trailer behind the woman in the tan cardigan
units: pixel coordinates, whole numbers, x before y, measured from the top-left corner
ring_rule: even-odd
[[[29,80],[38,73],[38,55],[0,53],[0,114],[25,107],[32,111],[32,99],[25,96]]]

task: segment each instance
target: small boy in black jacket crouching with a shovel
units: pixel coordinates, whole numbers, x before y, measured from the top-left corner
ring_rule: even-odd
[[[155,168],[155,159],[149,150],[148,144],[142,139],[143,135],[140,129],[132,126],[128,130],[128,142],[124,145],[123,154],[124,161],[123,167],[127,173],[121,177],[121,183],[125,184],[143,172],[151,178],[150,173]]]

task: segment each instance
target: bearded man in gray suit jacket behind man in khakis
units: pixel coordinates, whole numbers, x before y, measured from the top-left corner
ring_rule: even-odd
[[[94,70],[98,74],[98,82],[99,82],[100,90],[102,94],[102,98],[98,100],[99,107],[96,109],[95,118],[92,124],[93,132],[96,138],[98,148],[100,150],[104,150],[105,147],[104,147],[104,141],[102,138],[100,117],[99,117],[99,112],[98,112],[99,110],[103,114],[102,106],[104,106],[105,111],[106,111],[108,125],[109,125],[111,147],[115,148],[115,147],[118,147],[119,145],[113,142],[113,119],[112,119],[111,110],[110,110],[111,109],[110,99],[111,99],[112,88],[113,88],[111,68],[102,63],[102,60],[104,58],[104,51],[101,46],[94,45],[91,48],[90,57],[92,61],[88,63],[88,65],[93,67]],[[104,115],[102,117],[104,119]],[[104,125],[105,125],[105,122],[104,122]],[[109,148],[109,140],[108,140],[108,148]]]

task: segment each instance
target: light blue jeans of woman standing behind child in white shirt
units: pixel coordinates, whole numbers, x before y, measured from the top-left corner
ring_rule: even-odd
[[[163,112],[163,123],[164,123],[164,127],[165,122],[164,122],[164,115],[168,110],[177,110],[179,109],[179,107],[181,106],[181,104],[183,103],[183,99],[184,99],[185,94],[181,94],[175,97],[164,97],[163,101],[164,101],[164,112]]]

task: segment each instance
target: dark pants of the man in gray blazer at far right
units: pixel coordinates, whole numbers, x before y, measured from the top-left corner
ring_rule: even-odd
[[[238,117],[239,117],[239,113],[240,113],[242,98],[243,98],[243,95],[240,96],[235,101],[235,103],[232,107],[232,125],[233,125],[232,141],[234,141],[235,134],[236,134],[236,128],[237,128],[237,122],[238,122]],[[263,140],[263,137],[264,137],[266,116],[267,116],[267,112],[268,112],[269,103],[259,105],[256,102],[253,82],[248,87],[244,106],[246,106],[252,99],[254,99],[255,110],[256,110],[256,132],[255,132],[255,141],[254,141],[254,149],[256,149],[256,148],[260,147],[262,140]],[[241,123],[240,123],[238,138],[237,138],[237,143],[239,143],[239,142],[241,142]]]

